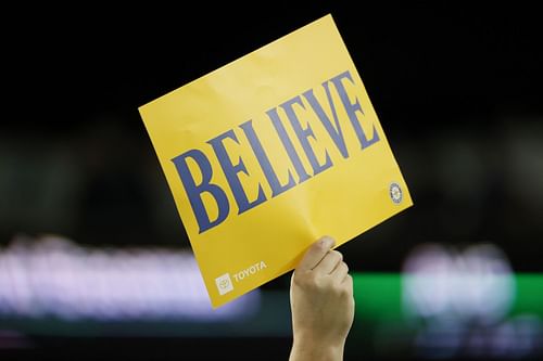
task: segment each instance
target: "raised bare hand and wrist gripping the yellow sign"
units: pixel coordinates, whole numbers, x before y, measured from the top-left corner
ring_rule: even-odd
[[[339,361],[354,320],[353,279],[343,256],[324,236],[291,278],[293,344],[289,361]]]

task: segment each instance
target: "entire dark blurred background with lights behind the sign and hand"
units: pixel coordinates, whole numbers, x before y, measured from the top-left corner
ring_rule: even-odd
[[[290,274],[213,311],[138,113],[331,13],[415,206],[341,246],[345,360],[543,357],[543,25],[523,2],[4,9],[0,359],[287,360]]]

